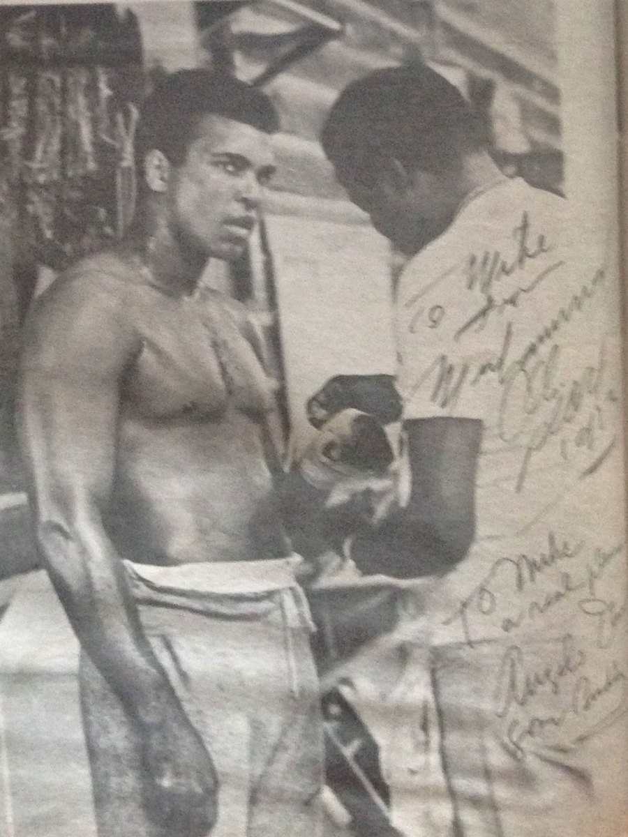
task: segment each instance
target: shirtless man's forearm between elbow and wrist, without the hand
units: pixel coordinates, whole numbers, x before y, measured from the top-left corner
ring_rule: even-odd
[[[164,698],[176,701],[131,597],[122,562],[104,534],[60,523],[38,526],[38,545],[81,646],[144,725],[158,724]]]

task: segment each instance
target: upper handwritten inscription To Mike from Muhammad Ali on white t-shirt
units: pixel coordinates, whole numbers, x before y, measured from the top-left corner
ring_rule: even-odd
[[[564,462],[575,461],[576,457],[579,462],[587,451],[599,454],[612,443],[605,431],[610,424],[610,404],[615,404],[617,398],[606,382],[609,362],[603,338],[597,338],[600,345],[596,358],[589,348],[586,366],[574,357],[571,348],[566,348],[569,343],[563,345],[560,339],[565,326],[576,316],[586,328],[588,308],[605,285],[605,268],[600,266],[589,279],[576,285],[569,264],[564,259],[553,259],[555,244],[543,232],[533,231],[528,212],[522,213],[511,239],[512,252],[507,255],[501,250],[485,249],[469,254],[462,264],[441,275],[440,280],[447,283],[456,282],[457,275],[471,300],[478,293],[481,295],[481,305],[460,325],[456,323],[457,327],[449,323],[446,351],[435,355],[420,370],[405,397],[412,400],[417,393],[425,393],[425,398],[446,415],[460,407],[469,390],[481,383],[497,383],[497,391],[486,390],[486,409],[491,415],[497,413],[502,443],[522,451],[513,480],[513,490],[520,493],[533,460],[550,442],[556,444],[553,458],[560,456]],[[513,287],[519,274],[525,279]],[[536,333],[532,331],[530,339],[530,324],[538,309],[517,309],[548,282],[552,283],[552,290],[543,296],[540,309],[547,319]],[[424,321],[425,307],[420,306],[425,302],[425,293],[435,291],[438,285],[439,282],[431,283],[405,303],[411,313],[410,333],[418,333],[420,321]],[[561,293],[563,287],[572,290]],[[554,300],[557,307],[545,311],[548,300]],[[436,309],[439,313],[435,318]],[[439,303],[430,307],[427,326],[442,329],[447,319],[445,303]],[[523,328],[528,331],[522,331]],[[477,337],[472,344],[474,351],[471,347],[466,349],[467,338],[480,332],[486,338],[482,351],[477,350]],[[595,456],[589,457],[580,465],[581,470],[586,471],[594,459]]]

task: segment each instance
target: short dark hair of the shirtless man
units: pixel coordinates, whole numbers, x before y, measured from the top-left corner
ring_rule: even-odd
[[[184,162],[198,121],[224,116],[271,134],[279,118],[261,90],[226,74],[207,69],[182,69],[160,76],[140,106],[135,152],[141,163],[153,148],[174,165]]]

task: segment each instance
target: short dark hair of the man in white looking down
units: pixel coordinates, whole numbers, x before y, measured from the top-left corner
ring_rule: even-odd
[[[427,64],[377,69],[338,96],[321,135],[335,164],[360,168],[378,157],[438,172],[487,146],[485,119]]]

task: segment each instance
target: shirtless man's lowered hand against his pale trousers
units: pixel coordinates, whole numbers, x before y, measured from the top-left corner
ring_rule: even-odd
[[[163,837],[206,837],[218,818],[214,762],[183,709],[142,726],[146,809]]]

